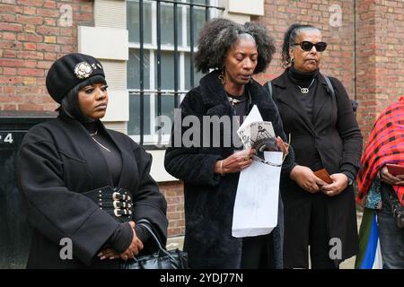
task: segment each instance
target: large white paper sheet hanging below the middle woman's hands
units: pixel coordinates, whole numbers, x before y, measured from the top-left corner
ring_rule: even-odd
[[[282,163],[282,152],[264,152],[265,160]],[[270,233],[277,226],[280,167],[253,161],[242,170],[233,209],[233,237]]]

